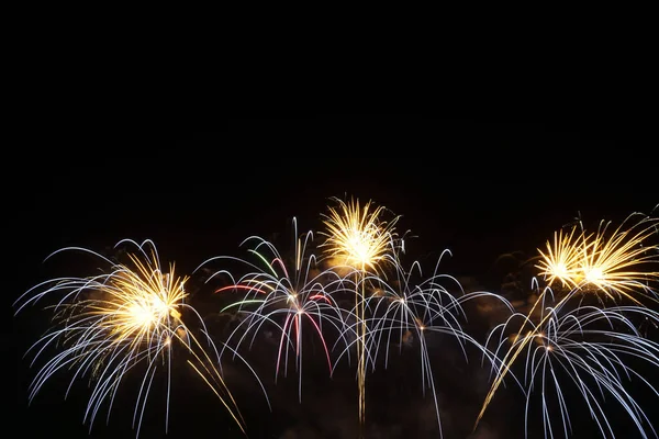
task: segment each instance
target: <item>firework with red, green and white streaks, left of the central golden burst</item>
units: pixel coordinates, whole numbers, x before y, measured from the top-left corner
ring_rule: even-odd
[[[343,278],[331,270],[321,271],[313,248],[313,233],[298,234],[297,219],[293,218],[293,258],[282,257],[278,248],[270,241],[250,236],[242,245],[253,244],[248,251],[257,263],[228,256],[220,256],[204,261],[199,268],[212,261],[234,260],[241,262],[249,272],[235,279],[226,269],[215,271],[208,281],[221,275],[231,279],[228,285],[219,288],[216,293],[230,291],[242,292],[243,297],[221,313],[231,311],[243,316],[239,324],[231,331],[225,346],[236,340],[233,352],[236,353],[242,345],[248,341],[252,349],[255,338],[265,327],[275,327],[281,334],[277,353],[275,379],[283,369],[287,375],[289,358],[294,357],[294,368],[299,375],[298,396],[302,399],[302,339],[303,328],[309,326],[321,340],[330,373],[333,361],[327,342],[326,328],[334,328],[336,334],[343,334],[345,322],[334,294],[343,291]],[[199,269],[198,268],[198,269]],[[224,348],[223,348],[224,350]],[[291,353],[292,352],[292,353]],[[222,356],[223,352],[220,354]],[[263,385],[261,385],[263,386]]]

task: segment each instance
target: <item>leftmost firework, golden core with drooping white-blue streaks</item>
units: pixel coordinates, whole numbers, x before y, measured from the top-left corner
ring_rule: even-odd
[[[115,245],[134,246],[126,263],[118,263],[86,248],[67,247],[63,251],[83,251],[107,263],[109,270],[87,278],[57,278],[42,282],[22,294],[15,302],[15,314],[25,306],[35,305],[46,296],[62,294],[53,306],[54,325],[26,352],[34,353],[31,365],[43,357],[46,349],[63,350],[48,359],[31,383],[30,401],[46,381],[62,369],[75,370],[67,394],[74,383],[89,375],[93,382],[85,413],[85,423],[92,425],[103,403],[108,403],[108,419],[119,387],[137,364],[145,364],[133,415],[133,428],[139,435],[147,396],[158,369],[167,375],[167,415],[169,424],[171,364],[175,345],[180,345],[194,361],[188,364],[202,378],[226,407],[233,419],[244,430],[243,418],[222,375],[213,365],[202,344],[183,323],[183,313],[192,315],[202,326],[197,311],[185,301],[188,277],[178,278],[175,264],[164,272],[156,246],[150,240],[142,245],[124,239]],[[215,350],[210,338],[206,348]],[[136,371],[133,373],[137,373]]]

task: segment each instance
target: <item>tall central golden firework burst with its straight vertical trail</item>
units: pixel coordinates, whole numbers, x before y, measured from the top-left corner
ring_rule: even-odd
[[[398,255],[403,248],[403,239],[395,232],[395,223],[400,216],[387,221],[383,214],[384,206],[371,210],[371,201],[360,206],[359,200],[344,201],[336,196],[331,201],[334,206],[328,207],[327,214],[322,214],[325,230],[322,233],[326,240],[320,246],[324,247],[325,256],[331,263],[337,267],[354,268],[355,282],[355,318],[357,320],[357,385],[359,391],[359,436],[364,437],[366,423],[366,334],[368,333],[365,318],[362,300],[365,291],[359,291],[359,285],[365,285],[359,278],[365,278],[369,272],[380,273],[382,267],[398,264]]]

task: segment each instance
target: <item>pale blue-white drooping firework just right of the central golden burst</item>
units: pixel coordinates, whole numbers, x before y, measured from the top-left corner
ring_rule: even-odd
[[[439,402],[426,337],[429,334],[440,334],[456,340],[466,361],[468,361],[467,344],[476,347],[484,358],[494,361],[494,357],[481,344],[462,330],[462,322],[467,320],[463,306],[467,302],[481,297],[494,297],[507,304],[503,297],[493,293],[466,293],[457,279],[439,272],[439,263],[444,255],[450,255],[450,251],[445,250],[442,254],[429,277],[424,277],[418,261],[415,261],[409,271],[403,270],[402,264],[399,263],[394,266],[394,274],[389,277],[391,280],[375,273],[367,273],[359,278],[359,282],[365,286],[356,289],[368,292],[366,296],[360,297],[362,303],[359,305],[367,313],[364,318],[368,320],[366,325],[368,331],[364,338],[367,369],[370,364],[370,368],[375,370],[382,346],[384,346],[384,369],[387,369],[392,354],[390,350],[392,340],[400,341],[398,342],[399,354],[403,344],[410,344],[412,339],[418,340],[422,391],[425,395],[426,387],[431,390],[440,437]],[[416,279],[418,281],[415,281]],[[445,285],[447,282],[448,288]],[[510,309],[513,311],[512,307]],[[356,311],[353,311],[353,314],[356,314]],[[355,326],[360,325],[360,322],[358,319],[355,322],[356,324],[349,330],[357,334]],[[355,342],[357,340],[358,338],[355,339]],[[342,354],[348,352],[349,348],[350,346],[347,346]]]

